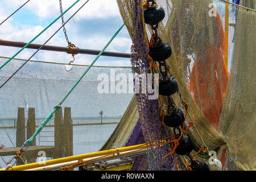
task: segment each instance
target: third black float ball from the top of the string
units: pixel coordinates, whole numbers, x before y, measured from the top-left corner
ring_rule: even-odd
[[[171,77],[169,81],[159,82],[159,94],[162,96],[171,96],[179,90],[175,77]]]

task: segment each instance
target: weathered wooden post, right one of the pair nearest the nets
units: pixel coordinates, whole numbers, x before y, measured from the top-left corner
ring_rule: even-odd
[[[65,157],[73,155],[73,121],[71,119],[71,107],[64,107],[64,147]]]

